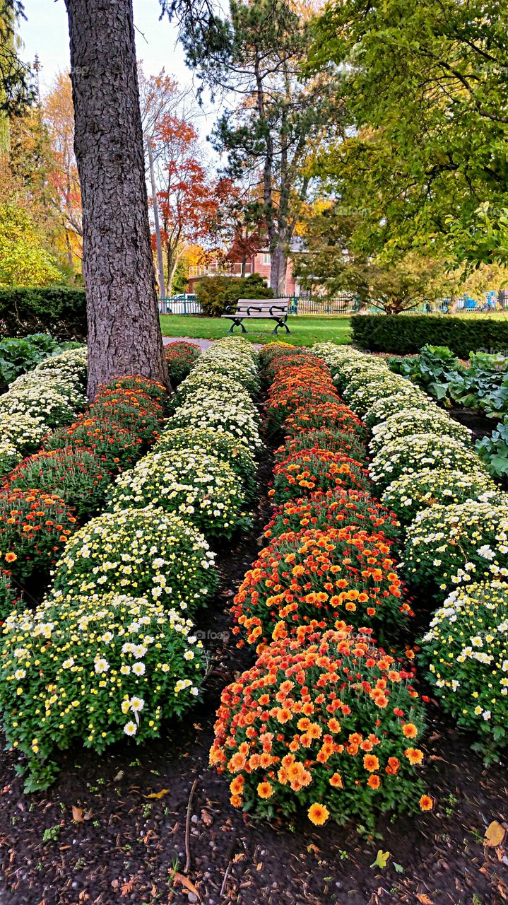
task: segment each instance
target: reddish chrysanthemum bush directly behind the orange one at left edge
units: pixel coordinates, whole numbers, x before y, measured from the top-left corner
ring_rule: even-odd
[[[5,479],[4,486],[57,493],[82,521],[99,510],[111,480],[106,463],[95,452],[65,447],[36,452],[24,459]]]

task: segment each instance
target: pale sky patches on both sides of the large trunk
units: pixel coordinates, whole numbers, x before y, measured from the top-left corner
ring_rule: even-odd
[[[35,54],[39,56],[44,95],[56,74],[70,67],[67,12],[63,0],[24,0],[24,11],[27,21],[21,20],[18,25],[24,43],[20,56],[24,62],[33,62]],[[185,66],[176,29],[167,17],[159,21],[159,13],[158,0],[134,0],[137,60],[143,62],[147,75],[155,75],[165,68],[180,83],[191,84],[192,73]],[[215,117],[216,111],[205,104],[196,122],[203,138],[211,132]]]

